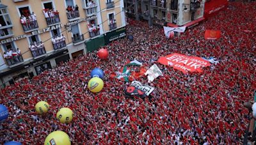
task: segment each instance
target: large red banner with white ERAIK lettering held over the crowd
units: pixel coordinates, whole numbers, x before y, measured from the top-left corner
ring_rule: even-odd
[[[166,66],[171,66],[174,69],[178,69],[184,74],[186,74],[188,71],[202,72],[202,67],[211,66],[209,61],[200,57],[189,57],[179,53],[173,53],[171,55],[167,55],[166,57],[160,57],[157,62]]]

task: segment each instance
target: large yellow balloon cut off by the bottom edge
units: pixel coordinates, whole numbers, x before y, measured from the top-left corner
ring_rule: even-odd
[[[55,131],[49,134],[44,141],[44,145],[52,145],[52,144],[70,145],[71,142],[68,134],[66,134],[63,131]]]

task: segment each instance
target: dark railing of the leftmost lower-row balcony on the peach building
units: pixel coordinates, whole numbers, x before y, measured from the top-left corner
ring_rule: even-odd
[[[24,61],[22,55],[18,54],[17,52],[12,52],[12,54],[4,56],[4,59],[6,60],[8,66],[10,67],[17,66]]]

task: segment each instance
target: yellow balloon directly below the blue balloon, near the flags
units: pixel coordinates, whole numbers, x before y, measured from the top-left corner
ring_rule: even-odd
[[[88,82],[88,88],[93,93],[98,93],[102,90],[104,83],[102,79],[98,77],[91,78]]]

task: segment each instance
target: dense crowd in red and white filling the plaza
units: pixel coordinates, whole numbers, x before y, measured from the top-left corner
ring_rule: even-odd
[[[0,104],[10,116],[0,124],[0,142],[20,141],[42,144],[54,130],[63,130],[72,144],[242,144],[248,120],[243,102],[253,99],[256,89],[256,3],[230,3],[228,9],[173,39],[164,37],[163,28],[148,27],[131,20],[127,34],[134,40],[118,39],[108,46],[109,58],[96,53],[70,60],[23,79],[1,90]],[[219,40],[204,39],[205,29],[221,31]],[[215,57],[219,64],[202,73],[183,74],[154,62],[170,53]],[[149,68],[162,70],[152,83],[150,98],[127,99],[120,79],[109,77],[127,60],[139,60]],[[90,71],[104,70],[104,89],[91,93],[86,87]],[[36,102],[51,105],[45,116],[38,116]],[[56,112],[70,107],[74,119],[61,124]]]

